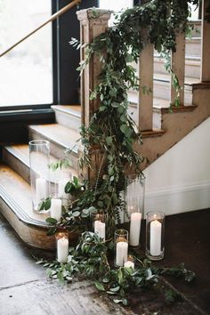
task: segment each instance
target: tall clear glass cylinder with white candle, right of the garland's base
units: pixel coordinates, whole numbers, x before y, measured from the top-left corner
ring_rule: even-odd
[[[125,177],[125,222],[130,223],[129,245],[139,246],[141,219],[144,217],[145,177],[131,174]]]

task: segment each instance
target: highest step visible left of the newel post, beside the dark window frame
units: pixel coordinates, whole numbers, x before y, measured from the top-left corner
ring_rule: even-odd
[[[77,105],[53,105],[55,119],[63,125],[78,132],[81,126],[81,107]]]

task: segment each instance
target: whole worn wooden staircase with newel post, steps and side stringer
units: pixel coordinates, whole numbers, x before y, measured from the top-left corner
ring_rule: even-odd
[[[82,40],[85,42],[90,42],[93,36],[103,32],[108,27],[109,20],[107,12],[104,14],[103,11],[97,19],[93,18],[94,15],[89,12],[91,10],[78,12],[81,34],[84,36]],[[143,144],[141,147],[136,146],[136,149],[148,157],[150,162],[161,156],[210,116],[208,101],[210,99],[210,69],[206,53],[210,50],[210,44],[207,31],[204,31],[208,29],[210,33],[210,27],[204,21],[197,21],[196,24],[198,28],[201,28],[202,40],[197,33],[192,34],[191,40],[185,39],[182,35],[177,39],[173,68],[178,69],[178,77],[184,84],[184,91],[181,95],[182,106],[174,109],[173,114],[169,112],[168,107],[170,101],[173,101],[174,93],[170,77],[163,68],[163,59],[159,58],[158,53],[154,52],[151,46],[145,48],[145,54],[143,52],[141,54],[141,64],[143,65],[146,58],[147,65],[150,62],[150,66],[147,69],[141,67],[140,77],[145,78],[145,85],[152,85],[150,87],[153,92],[145,95],[141,92],[138,94],[130,91],[129,112],[137,125],[141,127]],[[186,49],[183,50],[185,44]],[[81,51],[82,56],[84,49],[82,48]],[[184,67],[180,64],[184,64]],[[79,127],[81,122],[88,125],[93,109],[98,106],[97,102],[89,100],[89,93],[97,82],[99,72],[99,62],[95,58],[82,76],[82,107],[52,106],[55,112],[55,124],[28,125],[29,140],[50,141],[52,162],[55,158],[63,158],[64,149],[72,149],[69,156],[72,163],[67,170],[71,175],[78,174],[79,144],[76,144],[76,141],[79,138]],[[36,214],[32,210],[28,155],[27,143],[4,146],[0,164],[0,211],[28,245],[52,249],[54,237],[46,237],[46,230],[49,227],[45,222],[47,214]]]

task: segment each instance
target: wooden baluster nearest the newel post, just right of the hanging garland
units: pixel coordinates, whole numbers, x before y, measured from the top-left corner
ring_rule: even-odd
[[[141,52],[139,62],[140,91],[138,101],[139,128],[152,130],[153,109],[153,44],[147,44]],[[146,92],[145,89],[151,89]]]

